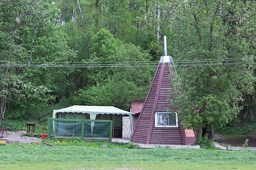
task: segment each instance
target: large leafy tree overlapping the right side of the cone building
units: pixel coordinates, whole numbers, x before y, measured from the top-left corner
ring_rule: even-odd
[[[201,137],[203,128],[221,127],[235,118],[243,93],[253,91],[255,32],[250,27],[255,23],[255,2],[177,1],[173,6],[169,42],[174,62],[218,59],[218,65],[177,67],[179,76],[171,78],[184,90],[184,95],[173,94],[171,105],[179,110],[182,124]]]

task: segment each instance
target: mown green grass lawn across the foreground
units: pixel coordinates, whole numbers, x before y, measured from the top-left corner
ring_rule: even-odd
[[[256,151],[128,149],[105,142],[0,145],[0,169],[255,169]],[[103,149],[102,145],[107,148]]]

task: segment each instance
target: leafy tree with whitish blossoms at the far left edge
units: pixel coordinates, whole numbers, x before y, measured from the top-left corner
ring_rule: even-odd
[[[2,1],[0,5],[1,62],[6,64],[0,71],[1,123],[6,108],[8,113],[23,108],[23,111],[15,112],[20,116],[31,107],[54,98],[50,95],[49,83],[52,70],[34,68],[33,62],[67,61],[75,54],[68,48],[65,34],[59,29],[59,10],[52,2]],[[22,67],[24,63],[26,68]]]

